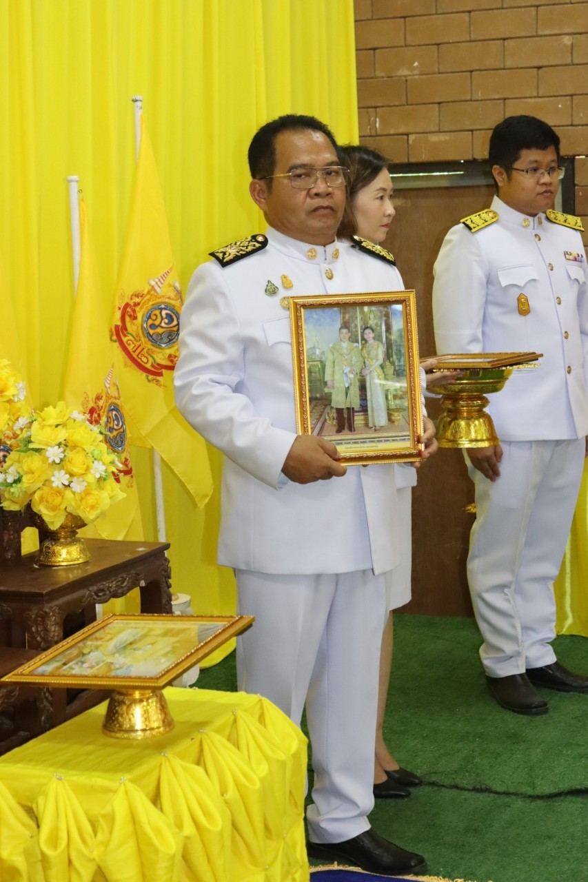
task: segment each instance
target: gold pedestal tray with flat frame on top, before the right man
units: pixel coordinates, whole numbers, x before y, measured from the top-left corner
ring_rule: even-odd
[[[448,382],[432,385],[441,395],[443,413],[437,423],[440,447],[490,447],[500,443],[492,417],[486,413],[486,394],[500,392],[512,371],[538,367],[536,352],[474,353],[436,355],[434,372],[456,370]],[[424,359],[425,360],[425,359]]]

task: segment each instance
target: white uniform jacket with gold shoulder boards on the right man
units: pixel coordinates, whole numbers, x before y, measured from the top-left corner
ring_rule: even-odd
[[[583,437],[588,295],[582,238],[545,214],[525,217],[498,197],[492,209],[498,221],[475,233],[458,224],[441,246],[433,286],[437,352],[543,353],[539,368],[514,370],[501,392],[489,396],[498,437]]]

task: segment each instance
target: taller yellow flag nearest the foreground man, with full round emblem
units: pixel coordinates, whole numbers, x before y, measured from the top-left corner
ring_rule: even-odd
[[[131,219],[111,338],[117,344],[124,407],[142,437],[185,483],[200,507],[213,488],[207,447],[179,414],[173,394],[182,304],[162,188],[141,117]]]

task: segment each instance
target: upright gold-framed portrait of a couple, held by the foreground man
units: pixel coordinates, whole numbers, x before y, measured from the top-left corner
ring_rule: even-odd
[[[349,465],[422,450],[414,291],[290,297],[297,430]]]

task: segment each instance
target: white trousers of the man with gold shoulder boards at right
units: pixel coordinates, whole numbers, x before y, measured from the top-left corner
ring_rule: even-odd
[[[477,513],[467,572],[489,676],[522,674],[555,661],[553,585],[584,465],[584,438],[501,446],[495,482],[469,466]]]

